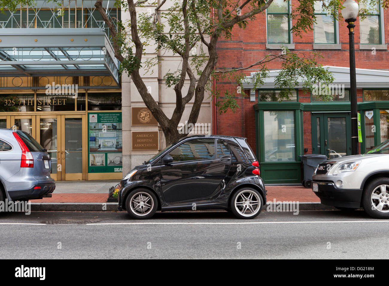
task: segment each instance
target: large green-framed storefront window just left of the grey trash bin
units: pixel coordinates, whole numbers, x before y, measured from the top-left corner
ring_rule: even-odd
[[[294,111],[264,111],[265,162],[296,161]]]

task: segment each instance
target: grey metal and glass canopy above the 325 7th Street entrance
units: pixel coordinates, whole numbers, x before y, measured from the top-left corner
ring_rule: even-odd
[[[119,61],[99,28],[0,29],[0,76],[112,76]]]

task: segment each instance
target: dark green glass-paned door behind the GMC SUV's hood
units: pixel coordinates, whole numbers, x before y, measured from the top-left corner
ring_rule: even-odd
[[[328,158],[351,154],[349,113],[312,114],[312,152]]]

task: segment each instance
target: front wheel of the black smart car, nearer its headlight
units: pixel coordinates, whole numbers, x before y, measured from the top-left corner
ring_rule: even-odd
[[[157,211],[158,201],[148,189],[135,189],[128,194],[126,209],[131,218],[148,219]]]

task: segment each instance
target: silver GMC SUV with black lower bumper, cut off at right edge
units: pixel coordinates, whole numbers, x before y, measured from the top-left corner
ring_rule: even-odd
[[[320,163],[312,190],[324,205],[342,210],[363,207],[374,218],[389,218],[389,140],[366,154]]]

